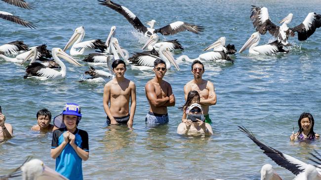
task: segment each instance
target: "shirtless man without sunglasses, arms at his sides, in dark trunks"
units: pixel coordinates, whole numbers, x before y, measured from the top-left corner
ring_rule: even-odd
[[[103,96],[107,124],[127,124],[131,128],[136,110],[135,83],[124,77],[126,64],[123,60],[115,60],[112,67],[116,77],[105,85]]]

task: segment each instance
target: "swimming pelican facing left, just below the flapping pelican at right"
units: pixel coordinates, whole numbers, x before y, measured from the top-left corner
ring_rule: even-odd
[[[282,43],[278,40],[262,46],[257,46],[260,42],[260,38],[260,33],[254,32],[251,37],[245,42],[239,53],[243,52],[248,47],[248,52],[252,55],[275,55],[276,53],[288,53],[287,50],[283,49]]]

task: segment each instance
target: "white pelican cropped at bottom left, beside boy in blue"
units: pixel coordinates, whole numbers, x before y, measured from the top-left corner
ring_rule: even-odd
[[[40,159],[28,159],[12,173],[0,176],[0,180],[7,180],[22,176],[23,180],[68,180],[56,171],[50,169]]]

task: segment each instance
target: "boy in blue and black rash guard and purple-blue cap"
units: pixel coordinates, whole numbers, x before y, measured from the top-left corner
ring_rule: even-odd
[[[89,158],[88,134],[78,129],[80,107],[67,103],[62,114],[53,120],[59,127],[52,134],[51,157],[56,159],[56,171],[70,180],[82,180],[82,160]]]

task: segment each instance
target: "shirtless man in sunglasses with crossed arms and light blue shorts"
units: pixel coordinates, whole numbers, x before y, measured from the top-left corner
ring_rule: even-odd
[[[150,104],[145,121],[148,126],[165,124],[168,122],[167,107],[175,106],[175,97],[169,83],[162,80],[166,73],[166,64],[163,60],[154,61],[155,77],[145,86],[146,97]]]

